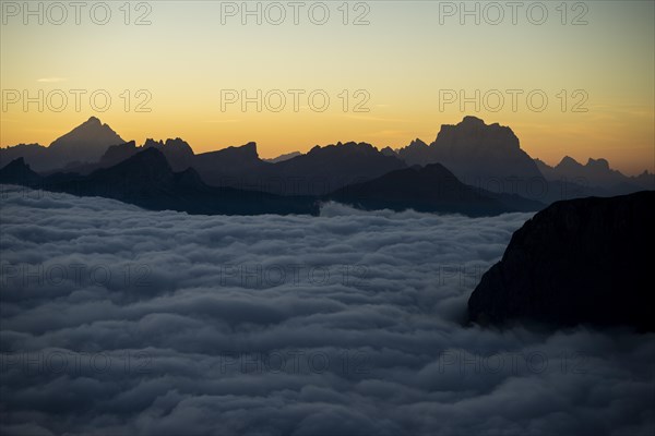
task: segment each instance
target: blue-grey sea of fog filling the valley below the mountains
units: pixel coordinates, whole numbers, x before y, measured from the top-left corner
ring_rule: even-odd
[[[531,214],[0,204],[2,434],[655,432],[655,335],[463,326]]]

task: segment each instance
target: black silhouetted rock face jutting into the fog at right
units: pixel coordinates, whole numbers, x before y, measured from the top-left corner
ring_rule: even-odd
[[[655,330],[655,191],[558,202],[512,235],[468,300],[469,319]]]

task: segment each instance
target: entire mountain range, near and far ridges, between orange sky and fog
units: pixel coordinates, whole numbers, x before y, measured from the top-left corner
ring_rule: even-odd
[[[167,168],[148,150],[158,152],[156,155],[166,161]],[[13,166],[9,167],[10,162]],[[128,162],[131,164],[127,166]],[[143,184],[139,174],[130,175],[131,171],[139,172],[140,165],[154,162],[158,162],[155,173],[160,173],[166,181],[158,189]],[[127,167],[121,166],[123,164]],[[179,198],[182,192],[191,195],[191,190],[214,195],[217,187],[234,190],[223,190],[224,196],[227,192],[239,193],[243,198],[249,197],[248,193],[274,194],[266,197],[267,207],[252,209],[253,213],[273,210],[284,203],[277,196],[289,196],[294,197],[291,203],[278,210],[313,213],[313,206],[306,203],[311,198],[312,202],[338,201],[366,209],[414,208],[467,215],[537,210],[563,198],[655,189],[654,174],[644,172],[629,178],[610,169],[605,159],[590,159],[583,166],[565,157],[558,166],[549,167],[522,150],[510,128],[487,125],[475,117],[465,117],[456,125],[442,125],[429,145],[417,138],[398,150],[390,147],[378,150],[366,143],[337,143],[275,159],[261,159],[255,143],[198,155],[179,137],[148,138],[138,146],[133,141],[124,142],[107,124],[92,117],[49,147],[21,144],[0,148],[0,168],[5,166],[0,178],[4,182],[34,184],[38,178],[38,183],[46,189],[66,192],[72,192],[72,183],[75,183],[82,195],[106,192],[97,195],[121,197],[150,208],[170,206],[191,213],[201,207],[182,202]],[[145,196],[159,195],[159,201],[135,203],[132,194],[124,190],[100,190],[98,183],[108,183],[108,173],[103,170],[122,174],[118,179],[127,178],[135,183],[134,189],[141,189]],[[148,171],[141,169],[144,174],[151,173]],[[25,173],[20,181],[14,180],[19,172]],[[189,185],[190,180],[195,182]],[[123,183],[123,186],[128,185]],[[303,206],[298,208],[300,204]],[[237,208],[221,209],[213,205],[205,210],[219,213]]]

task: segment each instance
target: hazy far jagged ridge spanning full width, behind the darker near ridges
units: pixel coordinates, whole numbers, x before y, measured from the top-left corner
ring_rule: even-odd
[[[521,149],[511,129],[498,123],[488,125],[475,117],[465,117],[456,125],[443,125],[437,140],[430,145],[416,138],[398,150],[391,147],[378,150],[366,143],[337,143],[315,146],[307,154],[291,155],[273,162],[259,157],[255,143],[195,155],[190,145],[178,137],[166,141],[148,138],[142,146],[136,146],[134,142],[102,145],[106,148],[105,153],[95,162],[81,164],[71,161],[70,157],[61,158],[62,161],[57,157],[58,149],[66,148],[73,132],[98,129],[108,132],[108,137],[114,138],[111,141],[120,140],[109,126],[92,117],[69,134],[56,140],[53,146],[23,144],[0,149],[0,166],[16,157],[24,157],[25,162],[39,173],[56,172],[52,167],[57,167],[59,162],[59,167],[66,168],[67,172],[90,174],[134,156],[144,148],[153,147],[164,154],[175,171],[194,168],[210,185],[283,195],[325,195],[340,187],[406,168],[407,164],[425,166],[434,160],[451,170],[462,182],[477,190],[499,195],[519,194],[541,203],[576,196],[606,196],[633,192],[639,187],[652,189],[655,180],[647,172],[639,178],[626,178],[609,169],[605,159],[590,159],[586,166],[582,166],[573,159],[564,158],[557,167],[548,167],[540,160],[533,160]],[[603,172],[605,175],[599,180],[605,184],[598,185],[598,178],[591,177],[593,171],[590,169],[594,169],[596,173]],[[586,172],[581,177],[583,170]],[[535,190],[535,181],[539,180],[543,182],[537,183]],[[617,181],[619,183],[615,183]],[[607,186],[609,182],[614,184]]]

